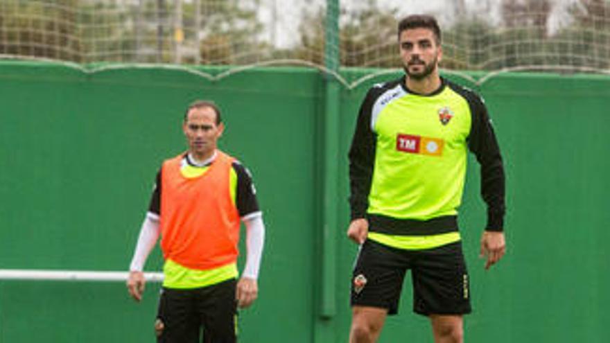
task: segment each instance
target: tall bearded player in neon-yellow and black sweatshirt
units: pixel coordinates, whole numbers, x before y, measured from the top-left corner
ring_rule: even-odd
[[[347,236],[360,245],[349,340],[376,342],[410,270],[413,310],[430,319],[435,342],[463,342],[471,305],[457,218],[467,151],[487,204],[485,268],[505,254],[502,157],[482,98],[439,76],[435,18],[406,17],[398,36],[406,76],[369,89],[349,150]]]

